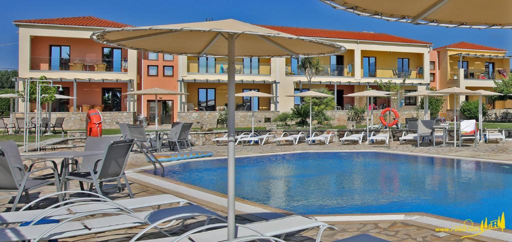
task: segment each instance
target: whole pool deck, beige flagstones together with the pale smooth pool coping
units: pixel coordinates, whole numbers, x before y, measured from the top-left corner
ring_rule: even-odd
[[[199,146],[195,147],[195,150],[212,151],[215,153],[215,157],[225,157],[227,155],[227,146]],[[485,144],[480,143],[478,148],[472,146],[472,143],[468,142],[466,146],[462,148],[454,147],[415,147],[414,143],[398,144],[398,142],[392,142],[391,149],[387,148],[384,144],[370,144],[370,145],[340,145],[339,142],[334,142],[329,145],[307,145],[298,144],[276,146],[273,143],[268,143],[263,146],[251,145],[236,147],[237,156],[245,155],[260,155],[265,153],[278,153],[278,152],[293,152],[293,151],[320,151],[320,150],[388,150],[391,152],[410,152],[424,155],[440,155],[440,156],[455,156],[468,159],[492,159],[502,162],[512,163],[512,142],[507,143],[493,143]],[[140,172],[140,168],[147,168],[147,162],[140,153],[132,153],[130,156],[129,165],[127,167],[128,176],[130,182],[132,182],[132,190],[136,197],[149,196],[161,193],[170,193],[177,196],[181,196],[192,202],[196,202],[206,208],[216,211],[222,215],[226,215],[224,194],[219,194],[212,191],[207,191],[201,188],[182,184],[169,179],[157,177],[152,174]],[[72,184],[73,188],[77,188],[78,184]],[[42,189],[34,190],[31,192],[31,198],[40,196],[42,194],[48,194],[54,191],[52,187],[45,187]],[[117,193],[115,186],[108,187],[105,192],[113,200],[127,199],[128,196],[125,192]],[[0,211],[7,211],[12,206],[14,193],[0,192]],[[20,201],[20,206],[23,206],[25,202],[24,197]],[[48,204],[52,204],[50,201]],[[46,206],[48,206],[48,204]],[[43,205],[44,207],[45,205]],[[168,206],[164,206],[168,207]],[[155,208],[153,208],[155,209]],[[147,208],[146,208],[147,210]],[[284,213],[279,209],[271,208],[268,206],[255,204],[252,202],[237,200],[237,223],[250,223],[254,221],[260,221],[265,216],[260,217],[258,213]],[[360,215],[360,216],[348,216],[347,214],[336,214],[332,216],[315,216],[320,221],[338,228],[338,231],[326,230],[323,233],[322,241],[335,241],[338,239],[347,238],[357,234],[371,234],[373,236],[390,240],[390,241],[501,241],[498,239],[486,238],[482,236],[476,236],[471,238],[461,238],[460,233],[452,233],[443,237],[439,237],[436,234],[434,225],[429,224],[428,221],[433,219],[440,219],[446,223],[457,223],[454,219],[446,219],[437,217],[435,215],[428,214],[371,214],[371,216]],[[201,217],[193,219],[186,223],[185,230],[198,227],[202,222]],[[427,221],[427,222],[425,222]],[[99,233],[89,236],[81,236],[70,239],[60,239],[60,241],[127,241],[130,240],[137,232],[142,230],[144,227],[137,227],[133,229],[124,229],[119,231],[111,231],[105,233]],[[318,229],[311,229],[303,231],[298,234],[290,235],[285,238],[286,241],[314,241]],[[182,233],[180,231],[180,233]],[[509,232],[509,231],[507,231]],[[161,233],[153,232],[144,239],[162,237]]]

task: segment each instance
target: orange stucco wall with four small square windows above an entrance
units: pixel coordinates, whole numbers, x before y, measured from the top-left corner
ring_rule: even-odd
[[[163,54],[158,54],[158,60],[148,60],[147,53],[142,54],[142,64],[141,64],[141,73],[142,73],[142,81],[140,89],[150,89],[153,87],[159,87],[161,89],[179,91],[178,86],[178,56],[174,56],[174,60],[163,60]],[[148,65],[157,65],[158,66],[158,76],[148,76],[147,75],[147,66]],[[164,65],[170,65],[174,67],[174,75],[173,76],[164,76],[163,75],[163,67]],[[140,98],[140,97],[139,97]],[[155,101],[155,96],[145,95],[140,98],[142,100],[142,107],[138,110],[143,110],[143,114],[146,117],[149,117],[149,113],[147,111],[147,102]],[[173,101],[173,121],[176,121],[178,116],[178,105],[179,99],[178,96],[174,95],[159,95],[158,100],[172,100]]]

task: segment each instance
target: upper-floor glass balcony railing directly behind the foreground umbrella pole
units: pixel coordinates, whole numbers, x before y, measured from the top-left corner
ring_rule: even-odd
[[[270,75],[270,63],[258,63],[257,65],[245,65],[243,62],[234,62],[234,72],[236,74],[248,75]],[[215,61],[215,64],[199,63],[197,60],[187,61],[188,73],[211,73],[227,74],[228,62]]]

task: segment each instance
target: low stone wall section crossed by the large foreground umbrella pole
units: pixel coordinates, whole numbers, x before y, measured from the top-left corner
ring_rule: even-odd
[[[200,127],[198,123],[203,123],[207,128],[217,127],[217,119],[221,112],[178,112],[178,122],[194,123],[193,127]],[[250,127],[251,126],[251,112],[237,111],[235,114],[235,126],[237,127]],[[274,124],[274,118],[279,115],[276,111],[255,111],[254,112],[254,126],[265,127],[268,124]],[[267,120],[265,120],[267,119]],[[268,120],[270,119],[270,120]],[[269,122],[265,122],[269,121]]]

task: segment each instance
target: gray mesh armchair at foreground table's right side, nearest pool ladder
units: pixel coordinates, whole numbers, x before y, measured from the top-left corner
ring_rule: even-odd
[[[63,175],[61,187],[64,185],[64,183],[72,180],[85,182],[91,184],[89,186],[90,191],[94,185],[97,193],[99,195],[103,195],[102,189],[104,182],[116,181],[118,184],[120,184],[122,178],[126,184],[126,189],[128,190],[130,197],[133,198],[130,183],[128,182],[126,174],[124,173],[124,169],[126,168],[126,163],[128,162],[128,157],[133,145],[133,139],[112,142],[106,148],[103,158],[94,163],[94,167],[96,167],[96,169],[94,169],[94,167],[86,166],[83,164],[70,163],[69,165],[71,166],[79,167],[80,171],[70,172],[67,175]]]

